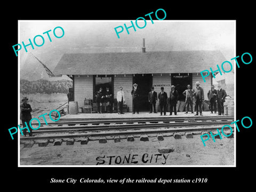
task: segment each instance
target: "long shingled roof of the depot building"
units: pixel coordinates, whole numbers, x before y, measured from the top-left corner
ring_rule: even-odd
[[[226,61],[220,51],[157,51],[63,54],[54,75],[199,73]]]

